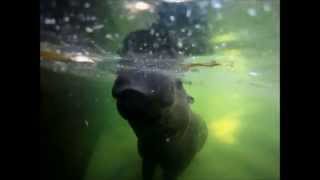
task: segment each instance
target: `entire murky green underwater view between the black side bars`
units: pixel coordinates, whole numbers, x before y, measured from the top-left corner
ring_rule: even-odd
[[[40,0],[40,177],[280,179],[280,0]]]

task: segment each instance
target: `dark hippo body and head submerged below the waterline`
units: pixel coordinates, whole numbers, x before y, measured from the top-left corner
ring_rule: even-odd
[[[151,180],[159,165],[166,180],[176,179],[200,151],[207,127],[190,109],[192,98],[181,80],[161,71],[118,73],[113,96],[122,117],[138,138],[143,178]]]

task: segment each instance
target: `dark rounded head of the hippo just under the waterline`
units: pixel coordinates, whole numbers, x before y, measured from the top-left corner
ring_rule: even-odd
[[[112,90],[119,113],[144,123],[160,119],[175,101],[176,81],[160,71],[119,72]]]

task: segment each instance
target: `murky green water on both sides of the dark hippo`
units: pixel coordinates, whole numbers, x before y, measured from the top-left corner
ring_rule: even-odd
[[[219,12],[208,37],[214,53],[189,60],[233,66],[184,76],[195,99],[192,109],[207,122],[209,137],[180,179],[280,179],[279,2],[230,1]],[[138,180],[136,138],[112,99],[114,76],[105,76],[93,80],[43,70],[42,119],[53,134],[50,141],[59,144],[52,153],[63,154],[63,162],[70,162],[66,169],[80,169],[85,180]]]

